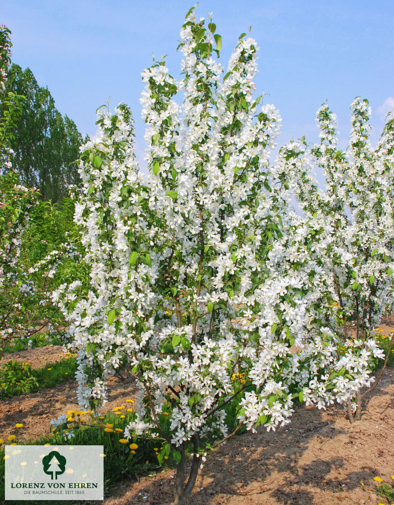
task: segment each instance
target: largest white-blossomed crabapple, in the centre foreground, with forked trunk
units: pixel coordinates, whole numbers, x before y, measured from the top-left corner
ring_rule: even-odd
[[[317,285],[321,275],[307,254],[309,229],[269,161],[280,117],[253,98],[255,40],[239,37],[224,74],[211,18],[206,28],[191,9],[180,37],[180,82],[163,61],[142,73],[147,182],[129,108],[98,110],[100,135],[81,148],[74,217],[90,288],[75,281],[53,294],[78,348],[80,405],[100,409],[109,375],[130,363],[139,393],[125,437],[158,439],[159,461],[172,455],[177,505],[208,449],[241,426],[289,422],[292,391],[318,356],[303,331],[316,295],[304,287],[311,271]],[[305,356],[290,352],[294,343]]]

